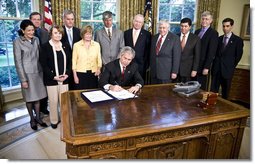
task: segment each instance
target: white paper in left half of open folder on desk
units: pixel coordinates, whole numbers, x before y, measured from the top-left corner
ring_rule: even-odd
[[[92,103],[114,99],[113,97],[109,96],[102,90],[87,91],[87,92],[82,92],[81,94],[85,96]]]

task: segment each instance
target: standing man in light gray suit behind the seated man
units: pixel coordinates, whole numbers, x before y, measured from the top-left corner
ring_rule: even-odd
[[[103,65],[118,58],[120,49],[125,46],[124,34],[121,30],[112,28],[112,12],[103,13],[104,28],[98,30],[95,41],[101,46]]]

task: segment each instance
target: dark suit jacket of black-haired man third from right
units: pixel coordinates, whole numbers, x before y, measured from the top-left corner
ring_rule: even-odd
[[[178,34],[180,37],[181,34]],[[182,51],[179,74],[182,77],[190,77],[192,71],[197,71],[201,52],[200,38],[189,33],[185,47]]]

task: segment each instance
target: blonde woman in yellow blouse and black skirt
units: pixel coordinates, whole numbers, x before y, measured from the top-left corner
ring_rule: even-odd
[[[72,69],[75,89],[98,88],[102,60],[100,45],[92,40],[92,36],[93,28],[90,25],[83,27],[82,40],[73,47]]]

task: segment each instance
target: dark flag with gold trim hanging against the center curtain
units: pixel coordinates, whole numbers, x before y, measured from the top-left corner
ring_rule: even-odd
[[[152,33],[151,0],[146,0],[144,6],[144,28]]]

